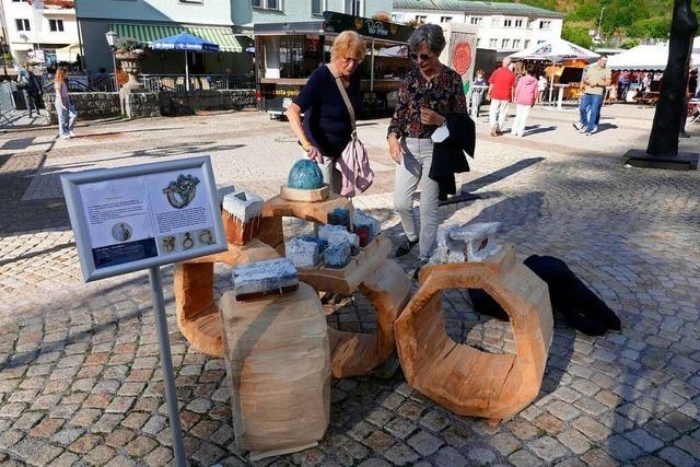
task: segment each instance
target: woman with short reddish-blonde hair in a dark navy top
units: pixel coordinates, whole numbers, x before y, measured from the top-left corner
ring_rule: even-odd
[[[318,164],[324,182],[334,192],[340,192],[342,186],[342,174],[336,168],[336,160],[352,138],[350,113],[336,79],[339,78],[345,86],[354,114],[360,114],[362,95],[360,74],[355,70],[365,54],[366,46],[358,33],[340,33],[330,49],[330,63],[318,67],[311,74],[287,109],[287,118],[299,143],[306,156]]]

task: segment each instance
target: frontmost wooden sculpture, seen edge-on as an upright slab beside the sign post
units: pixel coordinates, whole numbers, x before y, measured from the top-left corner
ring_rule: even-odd
[[[311,447],[330,419],[330,351],[318,294],[221,301],[224,359],[240,450],[250,460]]]

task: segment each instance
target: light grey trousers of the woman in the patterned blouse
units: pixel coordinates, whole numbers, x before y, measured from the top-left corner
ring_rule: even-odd
[[[438,183],[430,178],[433,161],[431,139],[401,140],[404,157],[396,165],[394,207],[409,241],[419,241],[421,259],[428,259],[438,234]],[[420,188],[420,231],[413,214],[413,194]]]

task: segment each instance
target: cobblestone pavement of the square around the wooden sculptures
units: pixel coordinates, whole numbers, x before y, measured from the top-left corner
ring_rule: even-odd
[[[557,317],[539,397],[494,427],[453,416],[400,371],[335,381],[322,443],[256,465],[698,465],[700,175],[622,166],[620,154],[645,145],[651,112],[606,107],[604,131],[590,138],[573,131],[572,112],[535,109],[526,138],[493,139],[481,124],[472,172],[459,177],[481,199],[440,209],[445,222],[502,222],[521,258],[567,260],[618,313],[621,332],[592,338]],[[377,183],[355,205],[397,238],[385,128],[361,127]],[[0,463],[160,466],[172,450],[148,278],[81,282],[57,174],[210,154],[221,186],[269,197],[299,148],[284,124],[257,113],[80,130],[69,141],[15,132],[0,147]],[[682,148],[698,150],[691,131]],[[225,268],[218,275],[221,293],[230,282]],[[171,268],[164,283],[187,455],[194,465],[244,465],[223,361],[183,339]],[[463,291],[445,293],[443,307],[455,340],[513,351],[508,323],[475,314]],[[371,305],[358,295],[329,323],[371,331]]]

